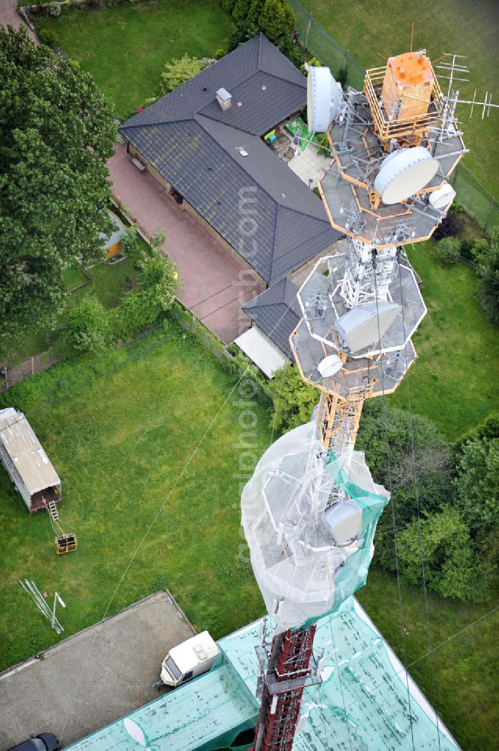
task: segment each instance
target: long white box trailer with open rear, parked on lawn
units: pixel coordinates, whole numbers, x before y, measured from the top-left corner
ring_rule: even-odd
[[[30,513],[59,503],[61,481],[23,412],[0,409],[0,461]]]

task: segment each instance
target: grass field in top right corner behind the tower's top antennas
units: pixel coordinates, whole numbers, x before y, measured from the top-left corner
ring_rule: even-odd
[[[314,19],[350,56],[364,68],[383,65],[377,53],[385,57],[410,49],[410,30],[414,23],[413,49],[425,49],[431,60],[443,53],[467,56],[469,82],[459,81],[460,98],[483,101],[485,92],[492,102],[499,104],[497,88],[497,31],[499,5],[493,0],[422,0],[414,5],[410,0],[301,0]],[[435,63],[438,65],[438,63]],[[444,71],[435,71],[444,74]],[[440,80],[447,91],[448,80]],[[499,140],[497,124],[499,110],[491,110],[488,119],[481,119],[476,109],[470,119],[470,107],[458,105],[458,119],[462,121],[464,143],[470,154],[463,164],[481,180],[485,187],[499,197]]]

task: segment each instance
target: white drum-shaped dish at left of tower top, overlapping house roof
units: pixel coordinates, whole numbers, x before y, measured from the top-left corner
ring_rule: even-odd
[[[324,133],[341,112],[343,92],[329,68],[311,65],[307,77],[307,124],[311,133]]]

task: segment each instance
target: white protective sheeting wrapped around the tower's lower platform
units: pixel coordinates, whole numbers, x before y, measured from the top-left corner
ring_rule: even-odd
[[[355,493],[356,505],[349,493]],[[278,632],[320,617],[365,581],[387,498],[372,481],[363,452],[350,449],[328,460],[311,424],[290,430],[267,449],[242,492],[242,526]],[[347,513],[331,511],[344,502]],[[333,525],[325,512],[336,515]],[[355,536],[345,542],[351,532]]]

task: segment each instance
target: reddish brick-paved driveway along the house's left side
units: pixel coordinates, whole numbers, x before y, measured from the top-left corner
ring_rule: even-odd
[[[250,324],[241,305],[260,294],[265,285],[256,284],[193,216],[165,195],[157,180],[137,170],[124,146],[115,144],[115,148],[116,154],[107,163],[113,192],[151,234],[164,227],[164,252],[179,267],[179,300],[223,342],[233,342]]]

